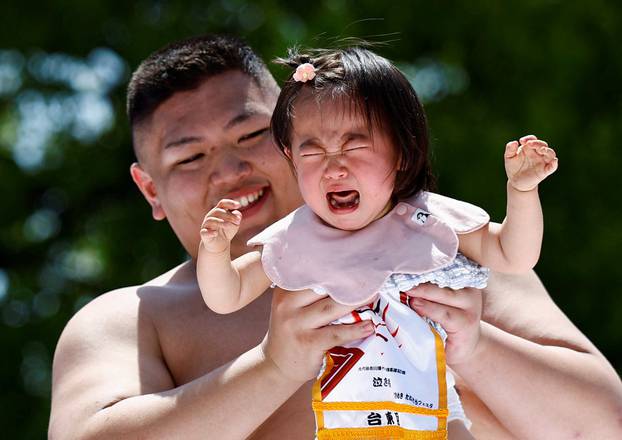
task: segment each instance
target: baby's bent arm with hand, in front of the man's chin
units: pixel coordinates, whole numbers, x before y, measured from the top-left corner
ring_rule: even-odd
[[[197,279],[205,303],[216,313],[235,312],[270,286],[259,251],[231,261],[231,240],[242,220],[239,208],[239,202],[223,199],[201,225]]]

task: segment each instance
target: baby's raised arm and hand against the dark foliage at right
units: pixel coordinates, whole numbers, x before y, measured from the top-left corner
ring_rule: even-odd
[[[535,136],[505,147],[507,214],[502,224],[460,235],[460,251],[483,266],[505,273],[524,273],[540,257],[543,218],[538,184],[557,169],[555,151]]]

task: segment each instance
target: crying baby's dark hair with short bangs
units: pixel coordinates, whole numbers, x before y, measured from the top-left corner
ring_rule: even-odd
[[[315,78],[306,82],[295,81],[292,72],[279,95],[271,124],[282,152],[291,148],[296,99],[302,90],[311,89],[317,99],[351,100],[355,109],[367,118],[369,127],[377,127],[389,135],[399,161],[393,190],[395,201],[432,189],[434,179],[423,106],[408,79],[390,61],[356,46],[314,49],[307,53],[290,49],[287,58],[275,62],[292,68],[303,63],[315,67]]]

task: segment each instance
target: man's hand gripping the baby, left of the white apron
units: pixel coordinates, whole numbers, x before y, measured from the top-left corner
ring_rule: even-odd
[[[305,290],[285,292],[275,289],[270,327],[263,349],[281,373],[295,381],[315,378],[329,349],[374,333],[371,321],[331,325],[347,315],[351,306],[338,304]]]

